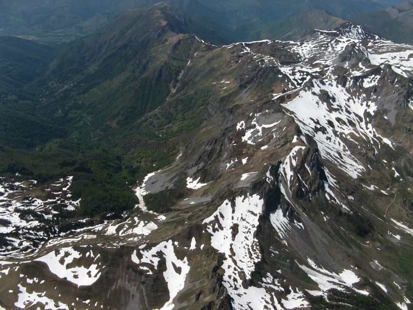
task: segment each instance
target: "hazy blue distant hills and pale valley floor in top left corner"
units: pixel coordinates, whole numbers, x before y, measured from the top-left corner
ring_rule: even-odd
[[[72,40],[98,29],[123,0],[2,0],[0,35],[39,40]]]

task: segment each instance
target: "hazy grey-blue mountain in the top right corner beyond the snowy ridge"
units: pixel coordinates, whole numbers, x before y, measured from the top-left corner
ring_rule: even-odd
[[[413,3],[410,1],[385,10],[357,15],[350,20],[394,42],[413,44]]]

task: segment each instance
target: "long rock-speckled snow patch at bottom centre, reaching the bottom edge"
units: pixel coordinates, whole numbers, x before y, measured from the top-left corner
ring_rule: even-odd
[[[212,235],[211,245],[226,256],[222,266],[225,270],[224,285],[234,299],[233,305],[237,310],[265,309],[271,305],[277,310],[282,309],[274,293],[254,286],[245,289],[239,280],[241,274],[248,279],[255,270],[255,265],[261,260],[254,233],[262,208],[263,200],[260,200],[258,195],[237,197],[233,206],[229,200],[225,200],[215,213],[203,222],[207,224],[206,230]],[[235,228],[236,224],[238,229]],[[238,233],[235,234],[237,230]]]

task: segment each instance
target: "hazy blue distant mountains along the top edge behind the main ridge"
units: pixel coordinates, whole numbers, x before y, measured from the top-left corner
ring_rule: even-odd
[[[3,0],[0,2],[0,35],[21,35],[24,38],[48,42],[70,41],[92,33],[120,12],[156,2],[158,0]],[[220,44],[252,40],[263,31],[261,25],[306,14],[314,9],[327,10],[335,16],[348,19],[358,14],[383,9],[395,1],[386,2],[386,5],[382,2],[167,0],[170,5],[193,17],[194,26],[191,31],[204,35],[206,40]],[[271,26],[263,27],[265,33],[265,28]]]

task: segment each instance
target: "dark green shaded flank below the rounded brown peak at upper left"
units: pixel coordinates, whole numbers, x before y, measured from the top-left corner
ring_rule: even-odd
[[[188,62],[187,45],[179,41],[188,22],[184,13],[159,4],[129,10],[70,44],[36,82],[50,85],[51,92],[40,112],[51,118],[64,115],[84,140],[107,141],[106,132],[121,135],[121,129],[157,108],[170,93],[170,84]],[[177,57],[165,58],[171,50]]]

